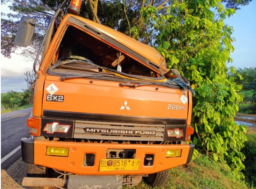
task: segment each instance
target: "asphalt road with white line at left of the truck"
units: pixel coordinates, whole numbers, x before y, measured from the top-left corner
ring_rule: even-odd
[[[21,138],[30,137],[27,118],[31,109],[1,114],[1,169],[7,169],[21,157]]]

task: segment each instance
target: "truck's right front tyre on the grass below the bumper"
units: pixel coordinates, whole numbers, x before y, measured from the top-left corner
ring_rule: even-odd
[[[169,169],[165,171],[160,171],[154,174],[148,174],[148,177],[143,177],[143,180],[145,183],[153,187],[163,186],[164,183],[166,183],[168,175],[169,175]]]

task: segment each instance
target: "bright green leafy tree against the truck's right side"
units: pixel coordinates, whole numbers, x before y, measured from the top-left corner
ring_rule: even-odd
[[[213,12],[215,10],[216,12]],[[246,128],[234,121],[241,86],[234,77],[227,77],[226,62],[234,50],[232,27],[224,19],[234,13],[219,0],[175,0],[162,15],[154,7],[142,9],[147,37],[154,36],[155,46],[165,56],[170,68],[178,68],[191,82],[196,92],[193,98],[193,142],[199,152],[243,177]],[[138,31],[139,28],[133,29]],[[235,73],[235,68],[230,68]]]

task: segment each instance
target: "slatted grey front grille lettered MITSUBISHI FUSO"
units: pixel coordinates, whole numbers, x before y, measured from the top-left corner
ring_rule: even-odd
[[[75,139],[163,141],[165,125],[75,121]]]

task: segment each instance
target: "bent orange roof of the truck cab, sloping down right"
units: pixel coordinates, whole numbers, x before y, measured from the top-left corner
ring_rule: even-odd
[[[99,32],[102,32],[105,35],[108,35],[109,37],[113,38],[115,41],[125,45],[126,47],[130,48],[134,52],[144,56],[150,62],[157,65],[157,67],[160,68],[161,72],[167,71],[166,61],[165,61],[164,57],[155,48],[150,47],[147,44],[143,44],[143,43],[135,40],[134,38],[131,38],[127,35],[124,35],[121,32],[111,29],[110,27],[104,26],[102,24],[98,24],[98,23],[96,23],[94,21],[90,21],[86,18],[82,18],[79,16],[70,15],[70,14],[67,14],[65,17],[67,17],[67,19],[69,17],[74,17],[74,18],[84,22],[85,24],[92,26]]]

